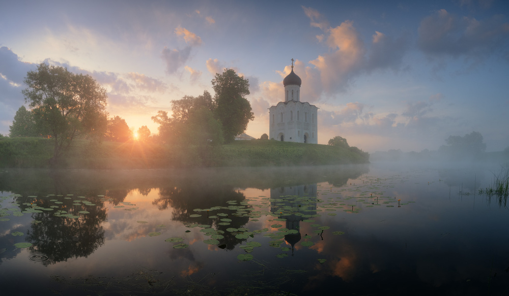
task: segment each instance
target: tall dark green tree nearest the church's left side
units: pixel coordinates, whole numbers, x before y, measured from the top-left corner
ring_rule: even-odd
[[[233,141],[254,119],[251,104],[244,98],[249,94],[249,80],[238,76],[235,70],[227,69],[216,74],[212,87],[215,91],[215,117],[221,122],[225,141]]]

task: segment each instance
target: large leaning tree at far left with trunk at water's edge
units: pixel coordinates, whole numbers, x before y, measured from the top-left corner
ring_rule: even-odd
[[[106,124],[106,90],[91,76],[73,74],[64,67],[41,63],[29,71],[22,90],[33,108],[36,123],[54,140],[50,165],[58,165],[77,137],[103,135]]]

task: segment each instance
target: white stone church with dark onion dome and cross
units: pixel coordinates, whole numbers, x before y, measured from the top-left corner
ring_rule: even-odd
[[[302,80],[292,72],[283,79],[285,101],[269,108],[269,139],[318,144],[318,107],[300,102]]]

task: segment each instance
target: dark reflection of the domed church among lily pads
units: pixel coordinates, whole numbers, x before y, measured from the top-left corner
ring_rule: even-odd
[[[317,214],[317,183],[306,185],[294,185],[270,189],[270,211],[281,218],[286,219],[286,228],[295,230],[297,233],[285,235],[285,241],[294,246],[302,235],[300,222],[308,215]]]

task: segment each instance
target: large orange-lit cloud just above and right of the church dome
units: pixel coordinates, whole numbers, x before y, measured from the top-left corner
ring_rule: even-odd
[[[313,81],[314,90],[319,91],[314,96],[320,96],[322,92],[330,96],[337,91],[346,91],[353,79],[363,73],[385,69],[398,71],[402,67],[409,47],[406,35],[394,38],[375,31],[371,42],[366,45],[352,21],[346,20],[330,27],[318,11],[303,9],[310,25],[323,31],[316,36],[318,42],[329,49],[309,61],[313,69],[305,69],[306,75]]]

